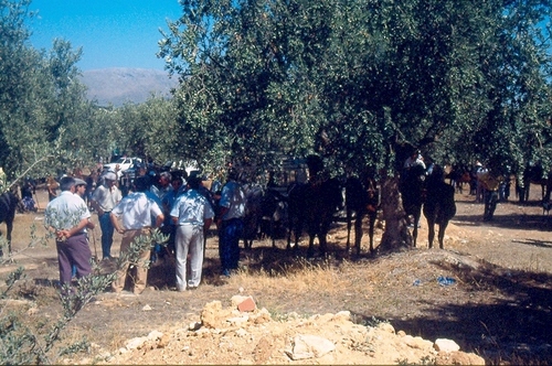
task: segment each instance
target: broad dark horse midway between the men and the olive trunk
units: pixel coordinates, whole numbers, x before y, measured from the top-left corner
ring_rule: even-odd
[[[319,182],[296,183],[288,189],[289,230],[287,248],[291,248],[291,234],[295,236],[294,249],[298,249],[304,226],[309,235],[307,257],[315,255],[315,237],[318,236],[320,254],[328,249],[327,235],[333,222],[335,213],[342,207],[341,184],[337,179]]]

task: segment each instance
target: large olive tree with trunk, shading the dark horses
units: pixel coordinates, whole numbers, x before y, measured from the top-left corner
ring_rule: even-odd
[[[182,146],[255,166],[283,151],[370,168],[384,250],[412,244],[399,193],[411,149],[519,165],[538,151],[520,142],[548,144],[549,1],[181,4],[159,55],[180,76]]]

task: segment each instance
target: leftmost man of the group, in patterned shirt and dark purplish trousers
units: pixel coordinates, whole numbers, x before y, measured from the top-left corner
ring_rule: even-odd
[[[47,204],[44,212],[44,226],[55,234],[60,283],[64,286],[71,284],[73,265],[77,278],[92,271],[92,252],[85,235],[91,213],[84,201],[74,194],[75,179],[64,176],[60,187],[62,193]]]

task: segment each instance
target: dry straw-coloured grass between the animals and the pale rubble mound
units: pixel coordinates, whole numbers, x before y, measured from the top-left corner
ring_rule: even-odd
[[[200,289],[177,293],[169,291],[170,280],[153,278],[158,291],[136,299],[100,297],[98,303],[78,314],[63,335],[66,340],[86,335],[104,349],[117,349],[126,340],[151,330],[198,321],[205,303],[229,301],[241,293],[252,295],[259,308],[273,314],[296,312],[307,316],[349,310],[359,323],[389,320],[407,334],[453,338],[464,351],[486,355],[490,363],[542,364],[542,357],[519,355],[512,349],[521,342],[550,338],[545,329],[550,324],[551,226],[542,227],[538,217],[529,214],[523,219],[535,224],[521,223],[517,232],[510,232],[513,220],[502,223],[501,216],[495,226],[482,226],[473,222],[481,206],[467,203],[459,207],[458,220],[447,230],[446,250],[428,250],[422,240],[414,250],[354,259],[343,251],[346,235],[341,226],[331,235],[329,259],[306,260],[304,251],[293,256],[285,251],[283,240],[276,249],[267,241],[255,243],[252,251],[243,251],[243,268],[230,279],[219,277],[217,241],[212,238],[208,241]],[[531,212],[533,207],[512,204],[498,209]],[[18,215],[17,228],[36,223],[39,233],[42,222],[34,216]],[[421,238],[426,236],[424,229]],[[29,243],[29,234],[28,229],[14,232],[14,247]],[[380,235],[378,230],[376,243]],[[367,241],[364,237],[364,252]],[[120,238],[116,236],[114,243],[117,250]],[[57,278],[53,243],[19,254],[15,259],[25,263],[31,279],[40,280],[34,282],[36,289],[32,280],[22,286],[18,295],[36,299],[33,301],[40,313],[33,315],[33,321],[55,319],[60,313],[55,289],[46,282]],[[7,272],[2,270],[3,278]],[[167,272],[158,268],[151,271],[155,276]],[[439,286],[439,276],[457,282]],[[420,286],[413,284],[415,280]],[[145,312],[145,305],[152,311]]]

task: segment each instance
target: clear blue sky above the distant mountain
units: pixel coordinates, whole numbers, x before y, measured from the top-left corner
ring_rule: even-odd
[[[82,71],[163,69],[156,57],[159,28],[167,31],[167,19],[177,20],[181,9],[178,0],[33,0],[29,10],[39,10],[39,17],[28,24],[30,41],[35,49],[51,50],[56,37],[82,47]]]

